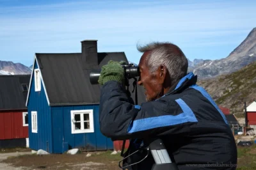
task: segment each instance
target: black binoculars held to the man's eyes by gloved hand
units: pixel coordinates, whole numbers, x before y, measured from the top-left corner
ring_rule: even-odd
[[[140,69],[138,66],[134,66],[133,64],[123,64],[125,79],[132,79],[134,77],[140,76]],[[101,69],[92,70],[90,72],[90,82],[91,84],[99,84]]]

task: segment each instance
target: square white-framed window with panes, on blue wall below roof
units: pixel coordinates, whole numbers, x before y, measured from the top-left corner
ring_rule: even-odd
[[[94,132],[93,110],[71,111],[72,134]]]

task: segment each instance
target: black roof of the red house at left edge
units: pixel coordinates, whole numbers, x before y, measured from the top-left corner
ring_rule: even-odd
[[[28,90],[22,84],[29,85],[30,75],[0,75],[0,110],[27,109]]]

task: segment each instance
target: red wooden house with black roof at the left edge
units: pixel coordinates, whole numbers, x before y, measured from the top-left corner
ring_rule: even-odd
[[[30,75],[0,75],[0,148],[28,147]]]

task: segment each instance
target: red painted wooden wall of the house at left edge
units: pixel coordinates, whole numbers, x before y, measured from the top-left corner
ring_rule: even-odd
[[[0,112],[0,140],[28,137],[28,127],[23,127],[22,112],[27,111]]]

